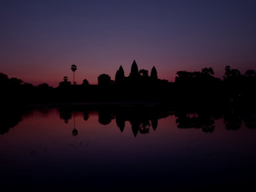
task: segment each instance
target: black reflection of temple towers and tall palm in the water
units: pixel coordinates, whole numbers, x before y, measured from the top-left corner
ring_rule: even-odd
[[[81,111],[84,113],[84,120],[89,119],[89,111],[84,111],[83,109],[60,109],[60,119],[64,119],[64,122],[68,122],[68,120],[72,119],[72,113],[74,111]],[[116,107],[113,110],[109,110],[109,108],[101,108],[98,109],[98,121],[100,124],[109,124],[111,120],[115,119],[117,127],[123,132],[125,128],[125,121],[129,121],[131,124],[131,129],[133,131],[134,136],[137,136],[138,132],[141,134],[149,133],[150,127],[153,130],[157,129],[158,120],[161,118],[168,117],[169,112],[164,111],[162,109],[153,109],[153,108],[122,108]],[[76,119],[75,115],[73,115],[74,119],[74,129],[72,130],[72,134],[76,136],[78,134],[78,130],[76,129]]]

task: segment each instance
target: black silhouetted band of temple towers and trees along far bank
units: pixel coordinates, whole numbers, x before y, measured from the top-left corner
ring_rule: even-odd
[[[225,67],[223,79],[214,77],[212,68],[201,72],[176,73],[174,82],[159,79],[155,67],[151,75],[147,70],[138,70],[134,61],[131,73],[125,77],[120,66],[115,81],[106,74],[99,75],[98,85],[90,85],[85,79],[82,85],[72,85],[67,77],[56,88],[46,83],[34,86],[21,79],[9,78],[0,73],[1,103],[79,103],[115,101],[152,101],[176,107],[207,106],[256,106],[256,73]]]

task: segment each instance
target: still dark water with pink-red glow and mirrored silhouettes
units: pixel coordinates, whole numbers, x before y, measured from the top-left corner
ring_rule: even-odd
[[[12,111],[0,122],[0,191],[255,191],[255,122],[232,111]]]

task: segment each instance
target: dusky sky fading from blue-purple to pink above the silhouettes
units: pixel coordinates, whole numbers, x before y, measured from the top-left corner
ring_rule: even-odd
[[[53,87],[76,64],[75,81],[122,65],[129,75],[155,66],[160,79],[181,70],[229,65],[256,70],[256,1],[0,0],[0,72]]]

